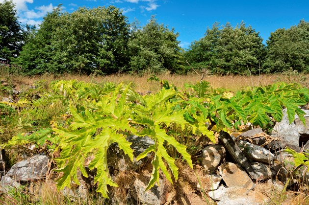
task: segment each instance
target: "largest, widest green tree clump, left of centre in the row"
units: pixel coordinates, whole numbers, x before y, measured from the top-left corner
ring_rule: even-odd
[[[129,24],[114,7],[49,13],[15,61],[27,74],[118,72],[128,64]]]

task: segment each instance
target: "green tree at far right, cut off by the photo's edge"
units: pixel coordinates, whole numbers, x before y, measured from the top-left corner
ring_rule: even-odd
[[[309,72],[309,22],[304,20],[289,29],[272,32],[267,40],[263,69],[274,73],[288,69]]]

